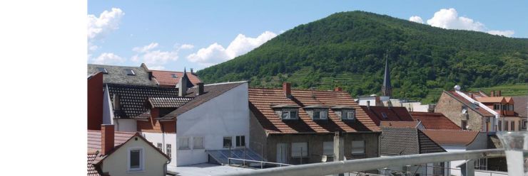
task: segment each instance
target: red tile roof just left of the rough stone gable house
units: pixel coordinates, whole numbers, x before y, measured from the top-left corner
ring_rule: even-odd
[[[448,119],[442,113],[410,112],[412,119],[422,121],[426,129],[461,130],[460,126]]]

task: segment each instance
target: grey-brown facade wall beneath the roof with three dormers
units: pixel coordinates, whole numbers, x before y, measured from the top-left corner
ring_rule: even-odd
[[[347,160],[360,158],[379,157],[379,136],[381,133],[345,133],[345,158]],[[288,163],[300,164],[300,158],[291,157],[292,143],[308,143],[308,157],[303,158],[305,163],[320,163],[323,155],[323,142],[332,142],[334,133],[310,134],[270,134],[267,138],[266,155],[268,161],[277,162],[277,143],[288,143]],[[365,141],[365,155],[352,155],[352,141]]]

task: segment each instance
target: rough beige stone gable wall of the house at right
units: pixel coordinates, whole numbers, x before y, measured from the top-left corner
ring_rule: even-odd
[[[462,104],[450,95],[442,92],[440,99],[438,99],[437,106],[435,107],[435,113],[442,113],[444,116],[455,122],[457,126],[462,126],[462,119],[467,120],[469,130],[474,131],[486,131],[484,117],[477,112],[473,111],[470,107],[467,107],[467,119],[466,116],[462,115]],[[491,129],[490,129],[491,131]]]

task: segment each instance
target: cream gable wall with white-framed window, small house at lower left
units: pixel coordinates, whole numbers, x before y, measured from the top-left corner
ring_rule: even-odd
[[[134,137],[138,138],[138,137]],[[143,148],[143,171],[128,172],[128,148]],[[132,139],[103,160],[101,170],[108,175],[164,175],[167,158],[145,141]]]

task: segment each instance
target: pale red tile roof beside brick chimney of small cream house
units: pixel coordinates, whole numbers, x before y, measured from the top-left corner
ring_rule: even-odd
[[[133,132],[116,131],[113,135],[113,146],[125,143],[135,134]],[[88,150],[101,150],[101,131],[88,130]]]

